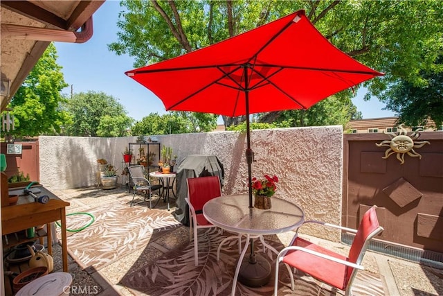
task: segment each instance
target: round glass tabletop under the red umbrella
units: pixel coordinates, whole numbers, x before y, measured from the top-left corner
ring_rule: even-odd
[[[249,208],[247,194],[223,195],[206,202],[203,214],[213,225],[241,234],[280,234],[305,221],[296,204],[274,197],[271,203],[271,209]]]

